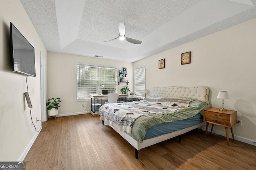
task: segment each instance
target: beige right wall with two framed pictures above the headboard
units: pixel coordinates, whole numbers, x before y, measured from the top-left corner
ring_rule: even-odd
[[[180,45],[134,63],[146,64],[146,88],[153,86],[208,86],[210,104],[221,108],[220,90],[230,99],[224,108],[237,110],[242,127],[234,126],[240,137],[256,140],[256,19]],[[181,65],[181,53],[191,51],[191,64]],[[165,59],[164,69],[158,60]],[[224,127],[214,127],[224,132]]]

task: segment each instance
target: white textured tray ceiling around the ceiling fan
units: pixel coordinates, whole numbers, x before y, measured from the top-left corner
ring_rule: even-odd
[[[256,0],[20,0],[48,51],[134,62],[256,18]],[[126,24],[132,44],[116,39]],[[15,24],[15,23],[14,23]],[[184,49],[190,51],[192,49]]]

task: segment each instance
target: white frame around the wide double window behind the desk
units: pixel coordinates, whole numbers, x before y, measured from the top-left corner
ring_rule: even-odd
[[[84,101],[89,101],[90,100],[90,98],[78,99],[78,97],[77,97],[77,88],[78,88],[78,85],[77,85],[77,82],[78,82],[77,66],[78,65],[92,66],[92,67],[98,67],[98,68],[100,68],[100,67],[113,68],[113,69],[116,69],[116,76],[118,75],[118,68],[116,66],[75,62],[75,102],[84,102]],[[99,77],[99,75],[97,77]],[[100,79],[98,79],[96,81],[100,81]],[[115,92],[117,92],[118,91],[118,80],[117,80],[117,78],[116,78],[115,81],[116,81],[116,85],[115,85],[116,91]],[[97,89],[98,89],[98,87],[97,87]]]

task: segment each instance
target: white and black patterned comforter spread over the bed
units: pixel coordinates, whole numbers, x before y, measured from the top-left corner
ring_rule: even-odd
[[[164,114],[188,107],[188,98],[145,98],[128,103],[108,103],[99,109],[100,119],[115,130],[132,136],[132,126],[142,115]]]

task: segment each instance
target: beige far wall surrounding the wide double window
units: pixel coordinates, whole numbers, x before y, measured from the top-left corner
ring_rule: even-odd
[[[118,70],[121,70],[122,67],[126,67],[128,74],[125,80],[129,80],[130,83],[128,84],[128,87],[131,91],[133,90],[132,63],[48,52],[47,98],[61,98],[62,103],[60,104],[59,114],[85,112],[82,108],[82,104],[84,104],[86,109],[90,111],[91,100],[76,102],[76,62],[115,66]],[[125,85],[125,83],[120,83],[120,85],[118,85],[119,93],[121,93],[120,88]]]

